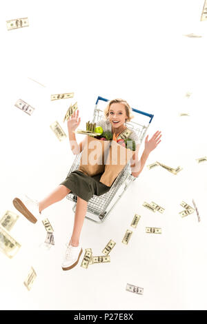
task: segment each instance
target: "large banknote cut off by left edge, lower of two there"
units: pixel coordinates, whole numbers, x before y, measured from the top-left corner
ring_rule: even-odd
[[[12,259],[12,257],[19,251],[21,245],[0,226],[0,250],[8,258]]]

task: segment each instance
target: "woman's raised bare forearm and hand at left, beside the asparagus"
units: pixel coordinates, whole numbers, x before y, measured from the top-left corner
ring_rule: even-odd
[[[79,154],[83,150],[83,141],[77,143],[74,130],[77,129],[81,122],[81,117],[79,117],[79,110],[74,112],[68,119],[68,137],[70,141],[70,148],[73,154]]]

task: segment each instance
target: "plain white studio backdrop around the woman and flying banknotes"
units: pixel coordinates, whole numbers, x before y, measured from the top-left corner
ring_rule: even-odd
[[[97,96],[123,98],[155,117],[148,134],[161,130],[159,146],[146,165],[161,167],[139,178],[108,216],[98,224],[85,219],[83,249],[101,255],[115,241],[111,262],[61,269],[74,220],[72,202],[63,199],[44,211],[55,229],[55,246],[44,250],[46,230],[23,216],[11,235],[21,243],[13,259],[0,254],[2,310],[192,310],[206,303],[206,28],[200,21],[204,0],[148,1],[4,1],[1,6],[1,182],[0,212],[15,212],[12,199],[26,193],[43,199],[66,178],[75,156],[67,139],[50,130],[70,103],[78,101],[79,128],[92,119]],[[6,20],[28,17],[29,27],[6,29]],[[190,39],[184,34],[200,34]],[[28,78],[45,85],[39,85]],[[50,101],[50,94],[75,92],[73,99]],[[192,92],[189,99],[186,92]],[[23,99],[32,116],[14,106]],[[188,112],[189,117],[179,117]],[[79,135],[78,141],[83,137]],[[144,141],[141,152],[144,150]],[[181,218],[179,204],[196,213]],[[155,201],[164,214],[148,211]],[[128,245],[121,243],[134,214],[141,219]],[[162,234],[146,234],[145,227]],[[83,250],[84,251],[84,250]],[[23,285],[34,267],[30,292]],[[126,291],[126,283],[144,295]]]

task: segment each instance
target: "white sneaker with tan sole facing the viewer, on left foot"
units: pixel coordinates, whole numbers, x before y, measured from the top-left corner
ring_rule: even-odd
[[[39,212],[39,203],[37,200],[30,199],[26,194],[13,199],[14,207],[23,214],[23,216],[32,223],[37,222],[37,216],[41,216]]]

